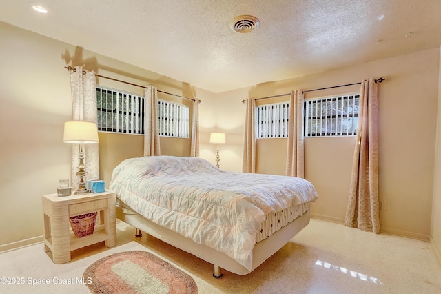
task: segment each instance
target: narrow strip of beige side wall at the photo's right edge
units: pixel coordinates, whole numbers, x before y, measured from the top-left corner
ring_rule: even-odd
[[[441,62],[441,58],[440,58]],[[438,89],[441,89],[441,63],[438,77]],[[435,175],[433,185],[431,244],[441,262],[441,91],[438,90],[438,124],[435,145]]]

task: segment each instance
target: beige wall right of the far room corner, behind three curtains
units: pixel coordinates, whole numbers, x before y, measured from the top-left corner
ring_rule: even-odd
[[[380,212],[382,231],[429,239],[439,51],[438,48],[426,50],[231,91],[225,103],[234,112],[226,111],[222,119],[238,119],[236,108],[244,111],[243,107],[238,106],[238,101],[247,96],[267,97],[289,93],[294,89],[309,90],[350,84],[368,77],[384,77],[386,81],[379,86],[379,184],[380,201],[387,202],[388,207]],[[347,94],[359,89],[359,86],[351,86],[308,92],[305,98]],[[224,98],[225,94],[216,97]],[[289,97],[284,99],[286,101]],[[234,132],[234,136],[243,134],[241,129],[243,119],[242,125],[236,127],[238,131]],[[305,139],[305,177],[316,186],[320,197],[311,210],[315,217],[343,222],[354,141],[354,137]],[[284,139],[257,140],[256,164],[259,173],[285,173],[286,144]],[[224,167],[236,169],[237,166],[232,164]],[[439,212],[435,214],[439,215]]]

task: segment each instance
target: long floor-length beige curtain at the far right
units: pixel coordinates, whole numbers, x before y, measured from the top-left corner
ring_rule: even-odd
[[[378,85],[363,80],[345,226],[380,233],[378,202]]]

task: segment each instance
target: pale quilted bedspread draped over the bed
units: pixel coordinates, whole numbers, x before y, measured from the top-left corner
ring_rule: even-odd
[[[249,270],[264,216],[317,198],[305,179],[229,172],[198,157],[125,159],[114,169],[109,188],[143,217]]]

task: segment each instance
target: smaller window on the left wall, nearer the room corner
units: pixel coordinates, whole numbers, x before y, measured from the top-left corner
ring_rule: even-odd
[[[168,101],[158,101],[159,135],[164,137],[189,137],[188,106]]]

